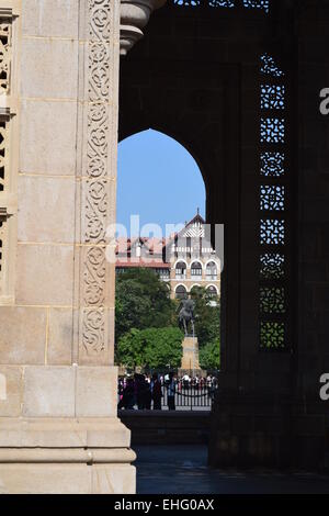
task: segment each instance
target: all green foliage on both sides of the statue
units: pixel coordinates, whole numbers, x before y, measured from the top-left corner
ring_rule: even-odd
[[[220,306],[204,288],[194,288],[195,335],[204,369],[219,367]],[[216,301],[216,303],[214,303]],[[150,269],[131,269],[116,279],[116,361],[126,367],[162,369],[181,364],[180,302]]]

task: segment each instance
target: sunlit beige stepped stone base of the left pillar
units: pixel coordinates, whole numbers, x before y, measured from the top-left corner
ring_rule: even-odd
[[[113,418],[1,419],[1,494],[134,494],[131,433]]]

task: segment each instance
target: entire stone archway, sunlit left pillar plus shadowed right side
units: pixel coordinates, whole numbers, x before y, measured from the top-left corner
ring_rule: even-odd
[[[134,492],[135,455],[116,417],[114,265],[105,259],[120,2],[27,3],[0,7],[1,490]],[[134,3],[148,19],[163,2],[123,1]],[[146,36],[122,60],[121,137],[154,127],[181,142],[206,183],[207,222],[226,227],[212,461],[325,465],[328,144],[318,92],[328,80],[328,0],[168,0],[147,30],[145,16],[139,25],[135,35]],[[132,32],[122,35],[129,45]],[[259,346],[264,53],[286,71],[288,100],[291,347],[280,352]]]

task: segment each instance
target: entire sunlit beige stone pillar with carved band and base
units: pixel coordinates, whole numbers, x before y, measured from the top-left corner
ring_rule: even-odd
[[[61,11],[52,1],[10,3],[0,68],[11,70],[4,86],[18,100],[0,96],[0,115],[20,110],[4,119],[11,138],[0,126],[0,165],[18,167],[9,178],[19,209],[8,197],[0,210],[13,213],[18,248],[12,295],[0,295],[0,493],[134,493],[131,433],[116,411],[115,265],[105,259],[120,2],[66,0]],[[7,248],[5,232],[0,239]]]

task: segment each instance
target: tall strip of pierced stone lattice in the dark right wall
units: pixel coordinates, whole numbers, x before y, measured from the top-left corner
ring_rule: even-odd
[[[275,59],[261,57],[260,348],[284,350],[287,333],[286,88]]]

